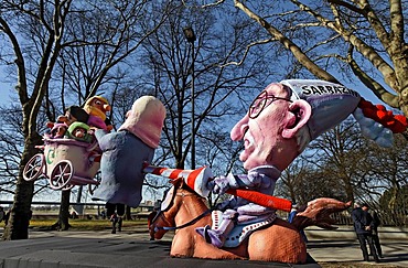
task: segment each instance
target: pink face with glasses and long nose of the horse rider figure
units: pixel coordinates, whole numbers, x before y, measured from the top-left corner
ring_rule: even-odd
[[[244,141],[239,160],[246,170],[275,165],[280,153],[281,133],[287,125],[290,94],[283,86],[271,84],[253,101],[247,115],[230,131],[234,141]]]

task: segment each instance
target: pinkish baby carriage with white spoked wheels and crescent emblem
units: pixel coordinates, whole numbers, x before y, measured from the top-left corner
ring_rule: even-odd
[[[25,181],[49,179],[54,190],[67,191],[75,185],[88,184],[89,192],[99,185],[100,163],[95,161],[100,157],[97,141],[84,142],[71,138],[50,138],[44,136],[43,153],[32,157],[25,164],[23,178]]]

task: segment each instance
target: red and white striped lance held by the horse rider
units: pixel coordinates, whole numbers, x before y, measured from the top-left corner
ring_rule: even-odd
[[[211,192],[211,190],[206,186],[207,182],[214,178],[213,172],[207,167],[202,167],[196,170],[181,170],[144,164],[143,172],[169,178],[171,180],[183,178],[189,187],[204,197],[208,196]],[[292,203],[289,200],[262,194],[256,191],[246,189],[229,189],[226,193],[273,210],[290,212],[292,208]]]

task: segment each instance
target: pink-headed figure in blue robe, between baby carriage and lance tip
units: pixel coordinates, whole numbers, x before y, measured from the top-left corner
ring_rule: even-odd
[[[93,200],[137,207],[142,199],[143,162],[153,160],[165,118],[163,104],[152,97],[137,99],[117,132],[98,129],[96,139],[103,150],[101,183]]]

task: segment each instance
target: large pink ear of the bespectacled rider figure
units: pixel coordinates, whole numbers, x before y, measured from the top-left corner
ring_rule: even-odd
[[[293,138],[299,129],[309,121],[312,115],[312,107],[308,101],[297,99],[289,106],[288,112],[291,114],[289,115],[290,119],[282,131],[282,137],[286,139]]]

